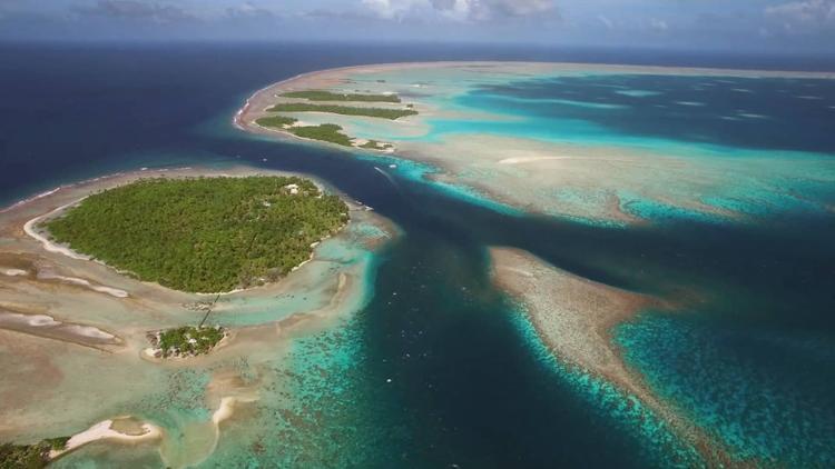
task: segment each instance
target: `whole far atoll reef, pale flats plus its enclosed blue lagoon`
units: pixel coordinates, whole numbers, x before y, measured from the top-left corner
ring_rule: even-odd
[[[750,220],[764,211],[807,209],[821,188],[835,183],[826,152],[790,137],[766,148],[756,130],[772,124],[779,132],[779,122],[792,119],[789,108],[767,107],[760,93],[783,90],[787,106],[831,114],[818,86],[832,79],[571,63],[393,63],[273,84],[254,94],[235,121],[282,137],[287,132],[255,122],[286,93],[397,96],[416,114],[395,121],[287,116],[305,126],[338,126],[358,142],[384,142],[389,147],[372,148],[436,169],[422,178],[518,210],[616,226],[658,218]],[[821,100],[806,99],[809,89]]]

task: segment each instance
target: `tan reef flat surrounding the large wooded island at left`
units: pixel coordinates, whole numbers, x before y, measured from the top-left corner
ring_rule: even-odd
[[[222,422],[245,418],[233,417],[233,409],[258,400],[266,382],[281,381],[259,363],[281,362],[293,338],[336,327],[367,301],[373,253],[396,228],[352,201],[351,221],[308,261],[275,283],[220,295],[210,316],[194,306],[215,296],[124,276],[32,228],[45,214],[139,179],[220,176],[297,174],[246,167],[144,170],[63,186],[0,211],[0,362],[9,376],[27,377],[0,386],[0,440],[73,436],[72,452],[53,455],[59,466],[101,439],[151,445],[167,467],[197,463],[214,451]],[[226,331],[210,353],[179,360],[144,353],[148,331],[203,321]],[[126,416],[136,431],[119,423]]]

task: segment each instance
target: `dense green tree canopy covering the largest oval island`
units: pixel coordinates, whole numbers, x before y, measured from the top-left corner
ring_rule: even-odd
[[[347,212],[296,177],[157,178],[92,194],[45,228],[141,280],[216,292],[279,279]]]

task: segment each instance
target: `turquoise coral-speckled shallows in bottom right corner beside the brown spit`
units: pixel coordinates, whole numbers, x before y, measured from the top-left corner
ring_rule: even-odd
[[[684,313],[646,312],[618,330],[628,362],[645,370],[661,396],[737,458],[795,467],[835,463],[829,337],[786,336],[773,327]]]

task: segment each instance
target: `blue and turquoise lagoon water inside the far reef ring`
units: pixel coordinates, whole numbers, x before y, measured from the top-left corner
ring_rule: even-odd
[[[360,137],[441,143],[453,137],[501,136],[603,148],[613,154],[618,149],[645,153],[649,171],[654,154],[690,164],[689,172],[679,177],[691,178],[691,184],[665,178],[666,168],[660,166],[657,177],[647,174],[641,180],[637,174],[631,186],[607,187],[617,193],[621,211],[645,220],[725,222],[727,218],[814,213],[826,210],[835,193],[831,80],[577,71],[515,77],[490,76],[479,69],[357,77],[370,83],[383,80],[384,84],[375,83],[383,88],[394,83],[405,90],[406,98],[462,116],[428,118],[426,131],[418,133],[366,120],[351,128]],[[483,168],[478,171],[464,169],[455,174],[464,181],[491,177]],[[462,184],[465,189],[466,182]],[[649,194],[638,189],[648,189]],[[544,196],[587,204],[589,213],[599,211],[595,204],[606,203],[606,192],[596,192],[593,187],[581,192],[553,188],[552,192]],[[684,208],[675,201],[697,201],[701,208]],[[552,211],[559,214],[558,209]],[[580,222],[619,223],[572,217]]]

